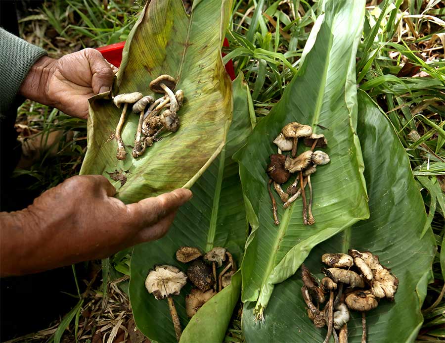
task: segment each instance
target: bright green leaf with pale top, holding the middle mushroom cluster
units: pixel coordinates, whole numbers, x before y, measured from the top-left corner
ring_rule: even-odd
[[[241,266],[242,300],[258,299],[257,311],[264,310],[274,285],[293,275],[314,245],[368,217],[355,134],[354,65],[363,14],[363,0],[326,2],[325,14],[319,17],[317,30],[303,52],[299,73],[280,102],[255,127],[247,145],[235,154],[253,228]],[[265,169],[268,156],[277,151],[273,139],[292,121],[311,125],[328,141],[325,151],[331,162],[320,166],[311,178],[316,221],[312,226],[303,225],[301,199],[287,210],[279,206],[279,226],[272,220]],[[281,203],[277,195],[275,198]]]

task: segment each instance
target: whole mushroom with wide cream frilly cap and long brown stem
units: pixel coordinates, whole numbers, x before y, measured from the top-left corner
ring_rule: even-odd
[[[156,266],[154,270],[148,273],[145,279],[145,288],[148,293],[153,294],[157,300],[167,298],[178,342],[182,333],[181,323],[179,322],[178,312],[171,295],[178,295],[186,282],[187,277],[185,274],[178,268],[169,265]]]

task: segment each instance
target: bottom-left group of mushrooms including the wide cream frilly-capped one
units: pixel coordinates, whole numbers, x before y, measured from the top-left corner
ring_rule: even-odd
[[[188,277],[192,285],[196,287],[185,297],[185,311],[191,318],[210,298],[230,285],[236,265],[232,254],[222,246],[214,247],[204,256],[197,247],[182,246],[176,252],[176,259],[182,263],[190,263],[187,275],[175,266],[159,265],[148,273],[145,288],[158,300],[167,298],[179,342],[182,329],[172,295],[179,294],[187,283]],[[227,263],[223,267],[223,262],[226,260]],[[218,278],[217,268],[222,268]]]

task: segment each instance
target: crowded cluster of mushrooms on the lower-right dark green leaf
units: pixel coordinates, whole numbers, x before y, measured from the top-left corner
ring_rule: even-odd
[[[366,343],[365,312],[376,308],[381,298],[394,300],[399,280],[369,251],[351,249],[348,254],[325,253],[321,261],[328,268],[321,269],[325,277],[320,285],[304,264],[301,267],[301,293],[309,318],[317,328],[327,325],[324,343],[330,341],[331,335],[336,343],[347,343],[349,310],[359,311],[362,314],[361,343]],[[327,300],[325,294],[329,294],[329,299],[320,310],[320,305]]]

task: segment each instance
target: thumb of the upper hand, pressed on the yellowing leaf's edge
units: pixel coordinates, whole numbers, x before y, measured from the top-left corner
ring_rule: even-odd
[[[102,54],[95,49],[85,49],[91,70],[91,88],[94,94],[108,92],[113,85],[114,73]]]

